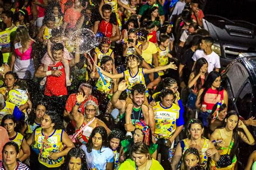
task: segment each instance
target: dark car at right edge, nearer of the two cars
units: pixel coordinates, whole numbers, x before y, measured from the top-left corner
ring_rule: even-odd
[[[256,53],[240,53],[222,74],[222,85],[228,93],[228,110],[235,110],[247,120],[256,114]],[[256,128],[248,126],[254,139]],[[238,169],[244,169],[256,148],[240,142]]]

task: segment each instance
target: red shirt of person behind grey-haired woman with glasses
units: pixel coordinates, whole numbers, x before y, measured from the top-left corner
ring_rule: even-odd
[[[72,108],[75,106],[75,104],[76,104],[76,102],[77,102],[76,96],[77,96],[76,93],[70,94],[68,100],[66,100],[66,107],[65,107],[65,108],[66,108],[66,111],[69,112],[69,113],[72,111]],[[90,95],[87,99],[85,99],[85,100],[81,103],[81,105],[80,105],[80,107],[79,107],[79,109],[78,109],[81,113],[84,113],[84,104],[85,104],[86,101],[88,101],[88,100],[92,100],[92,101],[94,101],[97,105],[99,105],[99,104],[98,104],[98,100],[96,99],[96,97]]]

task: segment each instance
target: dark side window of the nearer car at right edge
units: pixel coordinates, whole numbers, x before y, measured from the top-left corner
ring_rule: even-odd
[[[247,119],[250,116],[251,106],[252,106],[252,85],[247,79],[247,83],[240,91],[240,94],[235,100],[235,105],[237,106],[239,115]]]

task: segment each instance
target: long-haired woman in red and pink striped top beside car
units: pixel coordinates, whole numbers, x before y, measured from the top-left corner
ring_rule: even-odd
[[[224,100],[224,103],[228,105],[227,91],[220,86],[220,83],[220,73],[212,71],[208,74],[203,88],[198,92],[196,107],[200,110],[199,118],[203,120],[204,126],[208,125],[207,118],[217,102]]]

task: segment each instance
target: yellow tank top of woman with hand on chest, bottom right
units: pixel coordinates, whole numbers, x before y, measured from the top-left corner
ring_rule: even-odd
[[[187,142],[188,139],[183,139],[183,142],[185,144],[185,147],[183,149],[183,153],[186,151],[187,148],[190,148],[190,145],[188,145],[188,142]],[[203,147],[201,148],[201,151],[199,151],[199,154],[200,154],[200,160],[201,160],[201,166],[203,167],[207,167],[207,160],[208,160],[208,157],[206,155],[206,151],[209,147],[209,142],[211,142],[210,140],[208,139],[205,139],[204,141],[204,144],[203,144]]]

